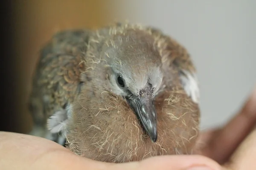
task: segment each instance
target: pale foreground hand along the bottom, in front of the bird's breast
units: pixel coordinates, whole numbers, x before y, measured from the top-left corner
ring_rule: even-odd
[[[204,156],[157,156],[139,162],[113,164],[76,156],[61,145],[35,136],[0,132],[0,167],[26,170],[221,170]]]

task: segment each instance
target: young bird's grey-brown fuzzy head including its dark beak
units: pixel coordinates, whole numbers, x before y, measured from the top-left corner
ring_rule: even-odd
[[[103,45],[108,90],[122,96],[140,120],[152,142],[157,141],[154,97],[163,79],[161,59],[154,40],[143,31],[115,34]]]

